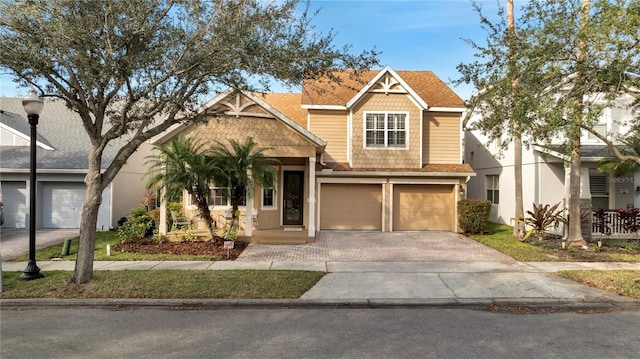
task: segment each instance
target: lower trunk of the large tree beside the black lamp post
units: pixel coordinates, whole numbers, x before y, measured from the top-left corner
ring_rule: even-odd
[[[93,277],[93,253],[96,247],[96,227],[98,224],[98,211],[102,203],[100,166],[97,167],[97,170],[94,168],[89,169],[89,173],[87,173],[85,177],[87,192],[82,205],[80,242],[78,243],[78,257],[73,275],[73,281],[77,284],[88,283]]]

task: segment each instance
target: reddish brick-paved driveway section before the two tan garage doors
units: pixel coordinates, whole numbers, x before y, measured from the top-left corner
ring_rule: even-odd
[[[457,233],[323,231],[305,245],[250,244],[250,262],[504,262],[516,261]]]

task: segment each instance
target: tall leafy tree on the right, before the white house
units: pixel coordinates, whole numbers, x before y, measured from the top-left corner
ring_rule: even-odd
[[[585,129],[595,132],[603,108],[637,79],[628,72],[638,69],[639,4],[638,0],[529,1],[522,8],[512,42],[503,35],[502,23],[494,25],[481,17],[494,46],[475,46],[483,61],[459,67],[464,80],[482,85],[477,102],[481,109],[489,109],[490,116],[481,129],[494,138],[501,132],[513,134],[504,128],[509,126],[528,134],[531,141],[565,140],[571,166],[568,207],[573,219],[568,241],[574,245],[583,243],[580,136]],[[517,56],[510,57],[504,49],[515,49]],[[517,61],[517,86],[505,80],[510,67],[500,57]],[[495,95],[500,92],[502,96]],[[507,100],[510,93],[516,94],[517,101]],[[501,114],[505,114],[503,124],[497,122]]]

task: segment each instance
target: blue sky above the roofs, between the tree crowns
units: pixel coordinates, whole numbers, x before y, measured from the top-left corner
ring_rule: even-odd
[[[496,0],[479,3],[486,15],[495,15]],[[311,7],[320,8],[316,29],[333,29],[336,46],[350,44],[355,53],[375,47],[382,66],[431,70],[447,83],[459,77],[456,65],[473,61],[474,51],[462,39],[482,43],[486,36],[470,0],[312,0]],[[463,99],[473,93],[471,86],[451,86]],[[27,92],[0,76],[0,96]]]

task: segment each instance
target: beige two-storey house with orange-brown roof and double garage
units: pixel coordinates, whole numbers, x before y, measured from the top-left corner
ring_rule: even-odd
[[[256,187],[246,199],[247,236],[456,231],[456,203],[475,175],[461,161],[464,101],[430,71],[336,75],[340,83],[309,81],[301,94],[221,93],[205,105],[208,122],[159,142],[179,134],[212,143],[250,136],[270,148],[280,161],[277,186]],[[228,203],[214,196],[212,210],[221,216]]]

